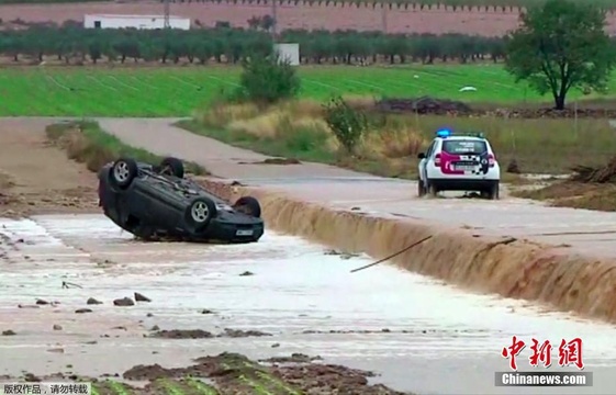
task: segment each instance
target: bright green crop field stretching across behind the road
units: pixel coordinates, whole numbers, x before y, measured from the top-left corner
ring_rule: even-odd
[[[237,87],[239,68],[44,68],[0,71],[0,116],[188,116]],[[470,102],[538,102],[497,65],[304,67],[302,98],[419,97]],[[474,92],[460,92],[466,86]],[[612,83],[616,91],[616,79]],[[575,93],[578,94],[578,93]]]

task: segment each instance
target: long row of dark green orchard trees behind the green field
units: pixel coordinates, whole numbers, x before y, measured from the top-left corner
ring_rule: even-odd
[[[360,64],[378,61],[432,64],[462,63],[504,57],[502,38],[458,34],[387,35],[379,32],[326,32],[290,30],[281,42],[299,43],[304,64]],[[48,57],[71,63],[113,59],[121,63],[147,60],[178,63],[237,63],[248,55],[268,54],[271,35],[264,30],[199,29],[191,31],[89,30],[74,25],[35,26],[0,32],[0,54],[20,61]]]

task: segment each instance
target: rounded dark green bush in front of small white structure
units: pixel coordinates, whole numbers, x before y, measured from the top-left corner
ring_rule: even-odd
[[[300,92],[300,78],[287,60],[278,56],[254,56],[243,60],[239,90],[235,100],[247,100],[259,105],[269,105],[293,99]]]

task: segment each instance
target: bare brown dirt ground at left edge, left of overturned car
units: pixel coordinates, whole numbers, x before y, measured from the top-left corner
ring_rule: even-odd
[[[0,120],[0,216],[93,212],[96,178],[49,145],[45,121]]]

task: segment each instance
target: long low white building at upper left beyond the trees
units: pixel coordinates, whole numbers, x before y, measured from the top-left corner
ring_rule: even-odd
[[[165,29],[164,15],[113,15],[113,14],[89,14],[83,15],[83,27],[86,29]],[[190,19],[169,16],[169,27],[190,29]]]

